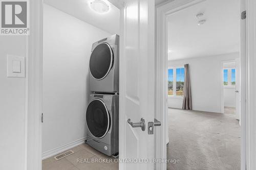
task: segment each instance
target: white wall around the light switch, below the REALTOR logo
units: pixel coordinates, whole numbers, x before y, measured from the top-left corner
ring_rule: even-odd
[[[25,36],[0,36],[0,169],[25,169],[25,78],[7,78],[7,54],[26,57]]]

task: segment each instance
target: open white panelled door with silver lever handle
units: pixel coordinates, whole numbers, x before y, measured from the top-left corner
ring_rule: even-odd
[[[154,134],[148,134],[148,123],[154,122],[155,112],[155,2],[127,0],[120,17],[119,169],[151,170]],[[145,130],[133,128],[129,118],[133,123],[143,118]]]

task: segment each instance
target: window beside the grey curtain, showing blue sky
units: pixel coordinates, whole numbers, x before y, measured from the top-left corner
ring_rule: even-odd
[[[168,69],[168,95],[183,96],[184,71],[182,66]]]

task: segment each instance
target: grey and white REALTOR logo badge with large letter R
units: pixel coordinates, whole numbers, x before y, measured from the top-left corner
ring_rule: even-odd
[[[29,35],[29,1],[0,0],[0,35]]]

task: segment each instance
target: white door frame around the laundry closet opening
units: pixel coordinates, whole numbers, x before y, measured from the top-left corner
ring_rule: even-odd
[[[30,1],[30,35],[26,38],[25,170],[42,169],[42,44],[44,0]],[[108,0],[120,9],[126,0]],[[121,24],[122,22],[120,22]],[[121,28],[120,28],[121,29]],[[121,33],[120,33],[121,34]],[[122,41],[120,39],[120,41]],[[122,44],[120,42],[120,44]],[[120,49],[121,51],[121,49]],[[122,53],[120,52],[120,55]],[[119,125],[119,128],[121,125]],[[119,141],[120,142],[120,141]]]

